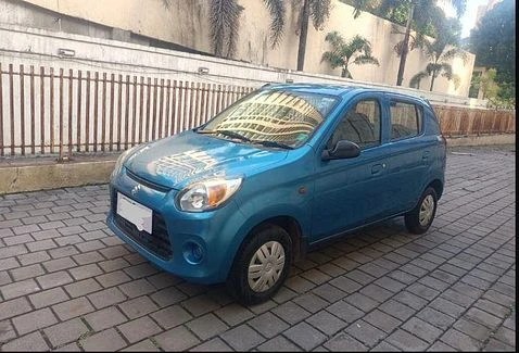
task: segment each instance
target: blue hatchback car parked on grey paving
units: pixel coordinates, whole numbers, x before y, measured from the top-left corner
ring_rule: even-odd
[[[410,232],[427,231],[445,153],[422,99],[267,85],[195,129],[123,153],[107,224],[159,267],[260,303],[309,247],[402,215]]]

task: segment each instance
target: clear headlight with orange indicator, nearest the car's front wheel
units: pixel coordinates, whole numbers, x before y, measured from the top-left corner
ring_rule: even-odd
[[[203,212],[216,209],[240,188],[242,178],[207,179],[188,186],[178,194],[178,206],[182,211]]]

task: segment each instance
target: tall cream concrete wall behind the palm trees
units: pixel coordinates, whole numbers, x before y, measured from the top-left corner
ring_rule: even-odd
[[[210,28],[207,25],[208,2],[205,0],[172,0],[170,9],[163,7],[162,0],[24,0],[41,9],[54,11],[56,18],[63,14],[79,20],[88,20],[107,27],[121,28],[131,34],[157,38],[193,48],[202,52],[211,52]],[[3,4],[2,4],[3,3]],[[240,34],[238,39],[237,60],[261,64],[270,67],[294,70],[296,67],[298,42],[295,35],[295,16],[291,7],[287,7],[286,33],[280,45],[273,49],[268,41],[269,15],[261,0],[240,0],[244,7],[240,17]],[[42,26],[39,15],[20,16],[20,4],[10,0],[0,0],[0,22],[24,26]],[[374,55],[378,58],[380,66],[352,65],[351,72],[355,79],[364,81],[394,85],[398,67],[398,58],[393,47],[402,39],[402,35],[393,34],[388,21],[363,13],[353,18],[353,8],[337,0],[332,1],[331,16],[322,30],[309,28],[305,72],[314,74],[340,75],[340,70],[331,70],[329,64],[320,62],[322,52],[329,50],[325,41],[331,30],[339,30],[345,38],[360,35],[368,38],[374,47]],[[143,9],[145,9],[143,11]],[[30,12],[30,11],[29,11]],[[14,15],[13,15],[14,13]],[[62,16],[63,16],[62,15]],[[65,17],[63,16],[63,17]],[[48,25],[48,24],[46,24]],[[53,27],[56,25],[54,24]],[[403,30],[403,28],[401,28]],[[65,29],[63,29],[65,30]],[[101,36],[103,37],[103,36]],[[104,36],[103,38],[106,38]],[[439,77],[434,84],[434,91],[468,97],[474,55],[469,54],[466,63],[460,59],[452,62],[454,72],[461,78],[456,88],[454,81]],[[428,59],[418,50],[409,53],[404,75],[404,85],[408,85],[410,77],[422,71]],[[421,87],[429,87],[429,79],[421,83]]]

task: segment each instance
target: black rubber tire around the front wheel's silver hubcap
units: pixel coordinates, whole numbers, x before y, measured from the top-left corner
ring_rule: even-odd
[[[253,290],[249,282],[249,265],[260,248],[263,245],[268,248],[268,245],[273,244],[271,242],[277,242],[282,245],[282,251],[284,252],[283,267],[280,272],[277,272],[280,273],[279,277],[274,285],[271,285],[271,287],[263,291]],[[276,244],[275,247],[277,248],[279,245]],[[253,230],[252,235],[245,239],[244,243],[240,247],[236,254],[235,262],[227,278],[227,288],[229,292],[238,300],[238,302],[243,305],[252,305],[265,302],[276,294],[276,292],[283,285],[289,274],[291,262],[292,240],[283,228],[275,225],[268,225],[255,229]]]

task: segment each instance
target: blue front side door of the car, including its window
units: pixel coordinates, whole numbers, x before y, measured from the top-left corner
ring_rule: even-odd
[[[383,211],[385,161],[381,143],[381,104],[377,96],[349,105],[327,146],[339,140],[357,143],[358,156],[322,161],[317,152],[311,242],[370,223]]]

